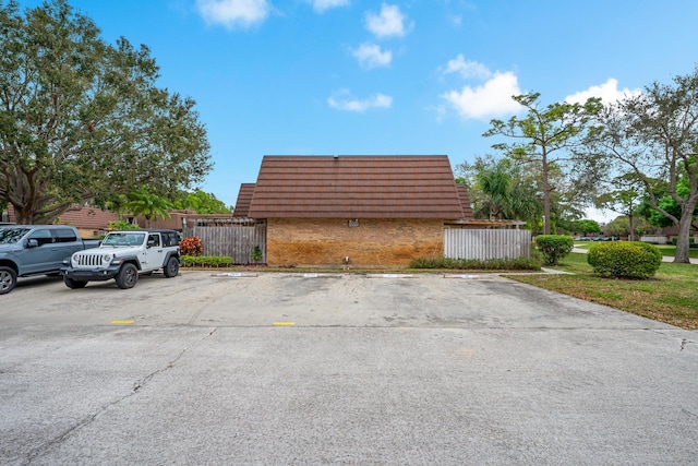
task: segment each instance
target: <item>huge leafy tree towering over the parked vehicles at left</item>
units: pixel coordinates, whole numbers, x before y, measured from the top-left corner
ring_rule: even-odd
[[[146,46],[99,34],[67,0],[0,5],[0,200],[20,223],[145,186],[169,198],[212,168],[194,100],[156,86]]]

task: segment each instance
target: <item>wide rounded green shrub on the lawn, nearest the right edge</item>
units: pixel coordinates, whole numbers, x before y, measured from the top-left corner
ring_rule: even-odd
[[[647,242],[602,242],[589,248],[594,273],[616,278],[649,278],[662,264],[662,252]]]

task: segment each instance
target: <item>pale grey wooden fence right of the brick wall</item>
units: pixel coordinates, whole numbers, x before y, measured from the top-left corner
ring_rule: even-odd
[[[531,255],[531,231],[515,229],[444,230],[444,255],[450,259],[515,259]]]

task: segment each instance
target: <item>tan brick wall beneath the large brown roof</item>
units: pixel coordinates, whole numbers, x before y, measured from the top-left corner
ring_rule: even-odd
[[[267,219],[268,265],[407,266],[412,259],[443,255],[443,220]]]

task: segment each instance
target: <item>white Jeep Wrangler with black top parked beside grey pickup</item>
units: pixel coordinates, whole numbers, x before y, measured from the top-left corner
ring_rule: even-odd
[[[133,288],[139,274],[163,268],[167,277],[179,273],[179,234],[149,229],[111,231],[97,249],[79,251],[63,262],[61,275],[69,288],[84,288],[87,282],[115,278],[119,288]]]

